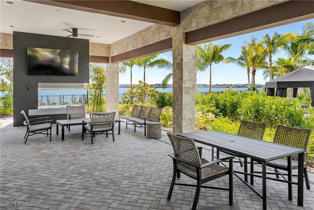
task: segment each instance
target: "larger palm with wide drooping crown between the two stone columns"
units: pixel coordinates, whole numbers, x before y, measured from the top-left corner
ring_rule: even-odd
[[[170,61],[163,58],[157,59],[158,56],[159,54],[153,54],[150,56],[146,56],[146,57],[142,57],[142,58],[138,58],[134,60],[137,66],[144,68],[144,80],[143,80],[144,83],[145,83],[146,68],[148,69],[154,68],[154,67],[158,67],[159,69],[163,69],[163,68],[171,69],[172,68],[172,64],[170,63]]]

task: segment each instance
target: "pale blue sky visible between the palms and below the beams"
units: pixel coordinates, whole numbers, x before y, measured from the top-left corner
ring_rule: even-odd
[[[217,41],[213,41],[213,44],[218,45],[225,45],[225,44],[233,44],[233,46],[223,52],[223,56],[225,58],[231,57],[238,57],[240,55],[240,46],[243,45],[244,42],[249,42],[251,37],[254,35],[257,40],[261,40],[262,37],[267,33],[269,36],[272,36],[274,32],[279,34],[287,33],[287,32],[295,32],[298,34],[302,33],[302,26],[305,23],[314,22],[314,19],[309,19],[306,21],[300,21],[292,24],[287,24],[283,26],[268,28],[252,33],[247,33],[239,36],[234,36],[226,39],[220,39]],[[172,62],[172,54],[171,52],[160,53],[159,57],[164,58]],[[280,51],[279,53],[273,56],[273,61],[276,60],[278,57],[287,57],[284,51]],[[247,73],[246,70],[236,66],[235,64],[213,64],[212,65],[212,84],[246,84],[247,83]],[[165,69],[148,69],[146,70],[146,82],[149,84],[158,84],[169,74],[171,70]],[[143,80],[144,70],[137,66],[132,68],[132,83],[137,84],[138,80]],[[119,84],[130,84],[130,69],[127,68],[127,71],[124,75],[119,76]],[[267,80],[263,79],[262,70],[257,71],[255,80],[257,84],[265,84]],[[209,84],[209,70],[206,72],[199,72],[197,74],[197,84]],[[172,84],[172,79],[169,81],[169,84]]]

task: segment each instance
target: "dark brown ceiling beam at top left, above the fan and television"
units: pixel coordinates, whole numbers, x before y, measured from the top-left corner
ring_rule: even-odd
[[[52,6],[145,21],[180,25],[180,12],[130,0],[26,0]]]

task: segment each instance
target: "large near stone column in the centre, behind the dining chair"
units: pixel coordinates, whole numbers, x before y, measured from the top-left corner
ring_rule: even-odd
[[[173,133],[195,131],[195,46],[185,45],[182,26],[172,29]]]

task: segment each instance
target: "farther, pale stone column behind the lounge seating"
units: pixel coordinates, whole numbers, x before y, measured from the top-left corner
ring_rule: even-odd
[[[107,112],[119,111],[119,64],[109,62],[106,64],[106,106]]]

